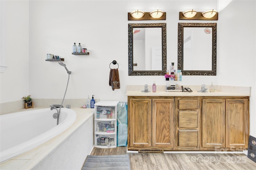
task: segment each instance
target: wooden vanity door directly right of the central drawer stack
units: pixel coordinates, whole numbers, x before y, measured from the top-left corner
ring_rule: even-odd
[[[225,100],[203,99],[202,149],[225,148]]]

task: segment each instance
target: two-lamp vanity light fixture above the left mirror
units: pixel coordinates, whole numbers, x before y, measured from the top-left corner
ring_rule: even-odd
[[[166,12],[155,10],[152,12],[142,12],[142,10],[134,10],[128,12],[128,20],[166,20]]]

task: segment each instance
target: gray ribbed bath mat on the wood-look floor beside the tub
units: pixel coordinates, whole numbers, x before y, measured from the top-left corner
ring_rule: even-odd
[[[94,156],[88,155],[82,170],[130,170],[128,154]]]

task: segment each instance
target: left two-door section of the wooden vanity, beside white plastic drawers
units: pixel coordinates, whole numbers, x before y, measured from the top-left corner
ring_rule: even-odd
[[[174,148],[174,98],[128,96],[128,150]]]

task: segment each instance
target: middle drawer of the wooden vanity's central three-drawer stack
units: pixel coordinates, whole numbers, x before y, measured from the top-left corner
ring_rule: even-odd
[[[179,111],[178,112],[179,127],[197,128],[198,112],[197,111]]]

